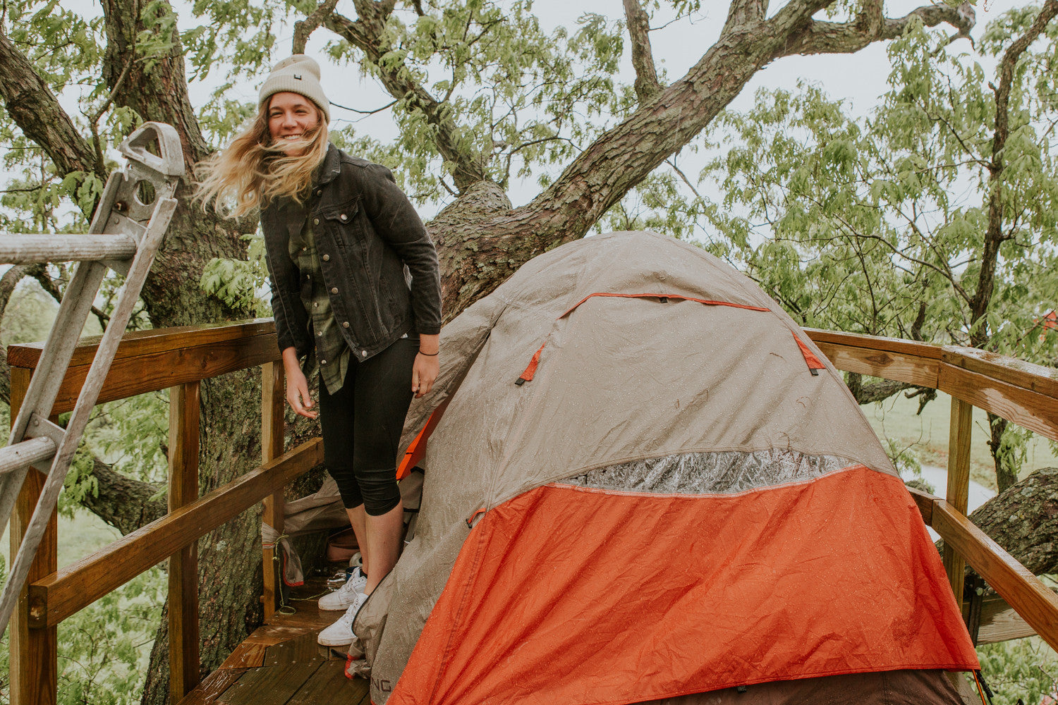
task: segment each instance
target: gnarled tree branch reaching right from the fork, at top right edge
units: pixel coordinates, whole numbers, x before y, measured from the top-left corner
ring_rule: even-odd
[[[875,41],[899,37],[915,19],[926,26],[947,22],[959,30],[956,36],[966,37],[974,22],[973,7],[969,3],[957,8],[944,3],[925,5],[899,18],[884,17],[881,11],[880,0],[872,0],[851,22],[810,20],[801,32],[792,33],[772,58],[794,54],[851,54]],[[781,15],[771,21],[779,20]]]

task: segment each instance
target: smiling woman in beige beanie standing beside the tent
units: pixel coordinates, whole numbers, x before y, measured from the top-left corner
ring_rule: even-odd
[[[316,419],[304,369],[320,367],[324,463],[342,495],[363,565],[323,610],[345,614],[320,633],[352,638],[352,619],[400,553],[396,458],[412,395],[437,378],[441,328],[437,253],[390,171],[327,141],[320,67],[297,54],[275,64],[257,117],[202,167],[199,198],[257,210],[287,402]],[[408,279],[409,277],[409,279]]]

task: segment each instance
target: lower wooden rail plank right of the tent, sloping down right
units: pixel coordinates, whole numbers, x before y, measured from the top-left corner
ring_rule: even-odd
[[[1058,595],[948,502],[934,504],[933,528],[1052,649],[1058,649]]]

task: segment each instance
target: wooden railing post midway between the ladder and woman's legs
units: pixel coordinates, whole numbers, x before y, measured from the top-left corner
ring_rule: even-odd
[[[198,499],[199,383],[169,388],[169,512]],[[169,702],[199,684],[198,542],[169,557]]]

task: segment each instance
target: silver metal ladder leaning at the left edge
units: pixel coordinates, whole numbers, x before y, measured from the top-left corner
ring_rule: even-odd
[[[87,235],[0,235],[0,263],[78,262],[12,425],[10,444],[0,448],[0,526],[11,518],[30,466],[47,475],[0,597],[0,635],[7,629],[89,414],[177,207],[172,194],[184,175],[184,159],[176,129],[145,123],[118,149],[128,166],[110,174]],[[124,274],[125,282],[63,429],[49,415],[108,268]]]

